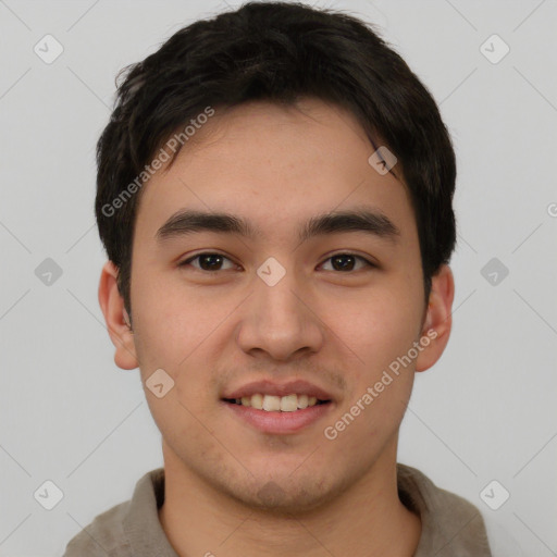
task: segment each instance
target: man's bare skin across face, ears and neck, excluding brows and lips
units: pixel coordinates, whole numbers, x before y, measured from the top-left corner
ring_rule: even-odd
[[[398,430],[414,371],[433,366],[447,344],[454,281],[443,265],[425,306],[409,194],[370,166],[373,151],[350,113],[317,99],[216,110],[170,170],[144,186],[133,332],[117,271],[110,261],[102,270],[99,302],[115,363],[139,367],[144,386],[160,368],[175,382],[163,398],[145,392],[162,434],[159,516],[178,555],[409,557],[416,549],[420,519],[396,488]],[[396,243],[350,232],[299,244],[301,222],[362,206],[396,224]],[[200,232],[158,243],[157,230],[186,208],[232,212],[261,235]],[[177,267],[207,251],[228,258],[221,270],[202,271],[199,259]],[[377,267],[357,259],[351,271],[335,269],[337,252]],[[269,257],[286,270],[272,287],[257,275]],[[324,428],[428,330],[436,337],[412,363],[334,441],[325,438]],[[260,379],[304,379],[333,403],[295,434],[263,434],[220,401]]]

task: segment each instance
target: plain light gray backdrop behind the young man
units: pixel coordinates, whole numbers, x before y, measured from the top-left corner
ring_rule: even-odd
[[[497,555],[557,555],[557,2],[317,5],[381,26],[441,103],[458,157],[454,331],[417,376],[399,460],[474,503]],[[97,300],[95,143],[117,71],[224,8],[0,0],[2,556],[61,555],[162,466],[139,372],[114,364]],[[34,52],[47,34],[64,49],[50,64]],[[510,48],[498,63],[481,50],[493,34]],[[62,270],[50,284],[47,258]],[[52,510],[34,498],[47,480],[63,492]],[[492,506],[510,493],[497,510],[480,496],[493,480]]]

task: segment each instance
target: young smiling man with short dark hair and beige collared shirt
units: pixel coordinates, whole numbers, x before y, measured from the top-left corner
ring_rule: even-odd
[[[398,54],[301,4],[197,22],[127,73],[98,166],[99,301],[164,468],[66,557],[491,555],[396,461],[450,333],[456,175]]]

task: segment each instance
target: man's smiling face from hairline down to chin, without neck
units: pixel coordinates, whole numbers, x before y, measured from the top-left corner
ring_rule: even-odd
[[[144,186],[134,334],[115,343],[144,385],[156,370],[174,382],[160,398],[145,389],[165,465],[281,509],[313,508],[393,465],[413,372],[443,350],[426,335],[406,187],[368,162],[351,114],[298,108],[216,111]],[[228,213],[252,234],[231,220],[168,224],[180,211]]]

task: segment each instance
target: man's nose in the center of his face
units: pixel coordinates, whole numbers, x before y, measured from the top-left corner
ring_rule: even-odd
[[[295,272],[286,271],[272,286],[258,276],[242,312],[236,338],[246,354],[284,361],[318,352],[323,345],[319,301]]]

